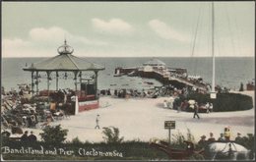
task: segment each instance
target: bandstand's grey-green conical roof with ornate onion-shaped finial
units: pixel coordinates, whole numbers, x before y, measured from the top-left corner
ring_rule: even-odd
[[[91,63],[83,58],[72,55],[74,49],[67,45],[67,41],[58,48],[59,55],[33,63],[23,68],[24,71],[101,71],[105,68]]]

